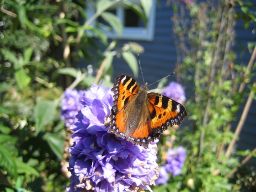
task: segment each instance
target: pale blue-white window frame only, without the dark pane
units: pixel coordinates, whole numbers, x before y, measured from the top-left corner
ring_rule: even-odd
[[[134,3],[140,5],[139,0],[134,0]],[[117,4],[115,6],[117,9],[117,17],[122,23],[124,23],[124,5]],[[87,9],[85,10],[88,18],[96,13],[95,3],[88,2]],[[121,36],[118,36],[117,32],[109,32],[104,30],[109,38],[118,38],[124,40],[141,40],[141,41],[153,41],[155,35],[155,14],[156,14],[156,5],[155,0],[152,1],[152,7],[149,14],[147,27],[124,27],[123,33]],[[95,22],[92,23],[95,25]]]

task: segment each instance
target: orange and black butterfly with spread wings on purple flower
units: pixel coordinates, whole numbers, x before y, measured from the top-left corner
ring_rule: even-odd
[[[147,93],[147,84],[139,86],[128,75],[118,76],[112,91],[114,101],[107,132],[145,149],[168,127],[181,125],[187,117],[180,103],[159,93]]]

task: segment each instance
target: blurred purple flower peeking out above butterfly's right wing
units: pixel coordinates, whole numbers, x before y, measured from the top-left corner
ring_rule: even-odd
[[[183,87],[176,82],[171,82],[167,87],[165,87],[165,89],[162,91],[162,94],[181,104],[186,101]]]

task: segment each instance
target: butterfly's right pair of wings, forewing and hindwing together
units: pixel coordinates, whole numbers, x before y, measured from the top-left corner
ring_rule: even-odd
[[[144,109],[144,112],[147,113],[147,120],[143,121],[142,119],[138,128],[127,136],[128,141],[142,145],[145,149],[167,128],[181,125],[181,121],[187,117],[185,108],[167,96],[148,93],[147,97],[147,109]]]

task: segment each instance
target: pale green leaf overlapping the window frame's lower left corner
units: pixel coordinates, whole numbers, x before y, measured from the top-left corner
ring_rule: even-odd
[[[119,36],[122,35],[123,24],[116,15],[110,12],[104,12],[101,14],[101,17],[105,21],[107,21],[111,27],[113,27],[113,29],[118,33]]]

